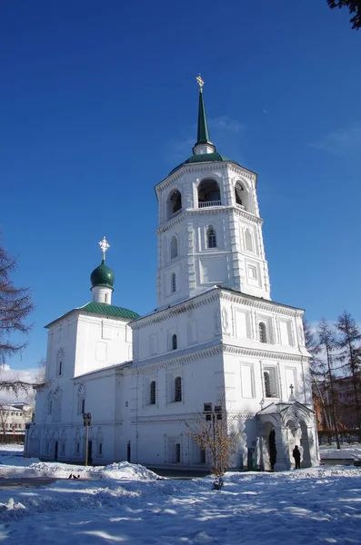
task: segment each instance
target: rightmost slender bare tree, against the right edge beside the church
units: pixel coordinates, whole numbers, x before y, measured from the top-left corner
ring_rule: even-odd
[[[337,359],[343,363],[342,371],[351,376],[355,396],[352,409],[356,409],[358,439],[361,442],[361,332],[355,319],[346,311],[338,316],[336,329],[340,333],[337,346],[341,351]]]

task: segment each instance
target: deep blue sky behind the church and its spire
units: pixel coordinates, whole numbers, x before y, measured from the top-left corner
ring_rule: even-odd
[[[0,3],[0,228],[45,323],[91,299],[155,308],[155,183],[196,141],[196,75],[220,153],[258,173],[272,298],[361,321],[361,31],[326,0]]]

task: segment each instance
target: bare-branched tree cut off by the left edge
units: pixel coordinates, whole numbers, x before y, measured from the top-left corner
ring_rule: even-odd
[[[34,309],[29,289],[16,288],[11,280],[15,269],[16,260],[0,245],[0,362],[3,363],[5,357],[24,349],[26,342],[13,342],[11,337],[14,333],[30,331],[31,325],[25,320]]]

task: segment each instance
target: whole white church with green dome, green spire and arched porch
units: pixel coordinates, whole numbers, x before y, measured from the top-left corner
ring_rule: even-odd
[[[93,301],[46,325],[28,455],[205,469],[186,422],[223,399],[234,469],[289,470],[296,444],[302,467],[318,463],[304,311],[271,300],[256,173],[216,151],[197,80],[193,154],[155,185],[157,308],[113,304],[104,239]]]

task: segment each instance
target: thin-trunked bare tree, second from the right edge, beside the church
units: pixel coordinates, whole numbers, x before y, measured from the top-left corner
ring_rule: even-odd
[[[326,381],[328,381],[330,385],[330,394],[331,394],[331,409],[332,409],[332,423],[335,430],[336,435],[336,445],[337,449],[341,448],[340,445],[340,437],[338,432],[338,419],[337,419],[337,411],[336,411],[336,390],[335,390],[335,383],[334,383],[334,352],[336,350],[336,339],[335,339],[335,332],[331,329],[329,323],[326,321],[325,318],[319,322],[317,327],[317,335],[318,335],[318,348],[320,351],[325,352],[326,356],[326,366],[327,366],[327,372],[326,372]]]

